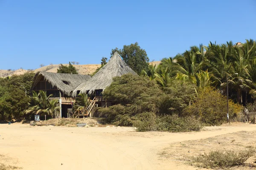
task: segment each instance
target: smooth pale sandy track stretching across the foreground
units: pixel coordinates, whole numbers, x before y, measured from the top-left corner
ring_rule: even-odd
[[[256,125],[206,127],[201,132],[135,132],[132,127],[37,127],[0,124],[0,155],[24,170],[196,170],[163,159],[170,144],[239,131]],[[62,164],[62,165],[61,165]]]

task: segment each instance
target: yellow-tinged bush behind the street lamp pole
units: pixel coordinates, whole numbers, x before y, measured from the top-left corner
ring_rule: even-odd
[[[229,101],[230,119],[234,119],[241,110],[241,105]],[[184,113],[184,116],[196,116],[207,125],[220,125],[227,120],[227,99],[214,88],[204,88]]]

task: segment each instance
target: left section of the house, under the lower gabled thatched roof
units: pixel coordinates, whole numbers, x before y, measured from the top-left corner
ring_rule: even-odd
[[[52,94],[51,99],[59,99],[61,106],[59,116],[68,117],[67,109],[72,108],[74,102],[70,92],[88,79],[90,75],[38,72],[33,79],[31,90],[46,91],[47,95]]]

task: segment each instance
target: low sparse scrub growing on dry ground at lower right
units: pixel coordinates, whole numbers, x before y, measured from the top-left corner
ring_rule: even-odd
[[[193,162],[198,167],[205,168],[229,168],[243,164],[247,159],[255,154],[256,150],[250,147],[241,152],[229,151],[211,151],[209,154],[199,155],[193,158]]]

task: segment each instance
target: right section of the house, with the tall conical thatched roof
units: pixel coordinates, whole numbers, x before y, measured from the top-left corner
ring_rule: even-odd
[[[122,76],[124,74],[136,74],[115,52],[111,59],[104,65],[92,78],[81,83],[72,91],[72,96],[75,97],[77,94],[88,94],[91,99],[91,105],[95,107],[108,107],[115,105],[116,102],[105,101],[102,98],[102,92],[106,87],[111,85],[113,77]],[[93,113],[92,115],[93,116]]]

